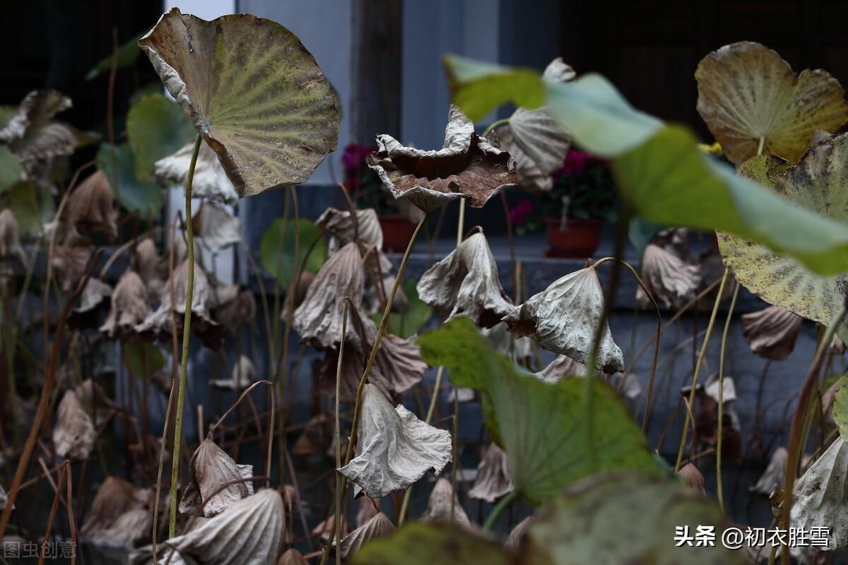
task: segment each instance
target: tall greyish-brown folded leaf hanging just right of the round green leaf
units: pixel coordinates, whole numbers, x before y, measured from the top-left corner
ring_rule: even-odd
[[[292,326],[300,339],[318,347],[338,347],[342,342],[344,297],[354,307],[362,302],[365,273],[360,250],[355,243],[343,246],[321,265],[315,280],[306,291],[304,302],[294,311]],[[358,343],[352,331],[353,315],[348,316],[348,343]]]

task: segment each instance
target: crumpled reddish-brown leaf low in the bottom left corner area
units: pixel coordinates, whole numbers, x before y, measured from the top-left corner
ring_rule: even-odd
[[[152,516],[148,509],[153,493],[137,489],[124,479],[109,476],[98,488],[92,509],[82,524],[83,540],[98,546],[131,549],[147,537]]]

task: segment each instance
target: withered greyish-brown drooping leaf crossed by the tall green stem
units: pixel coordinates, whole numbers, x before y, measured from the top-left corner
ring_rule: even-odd
[[[148,335],[155,340],[163,340],[170,336],[172,329],[172,313],[176,313],[177,330],[181,330],[183,316],[186,313],[186,290],[188,287],[188,260],[182,262],[174,269],[173,274],[174,294],[176,304],[171,307],[170,285],[171,281],[165,282],[165,292],[162,294],[162,302],[159,307],[141,324],[136,326],[139,334]],[[214,292],[209,288],[209,278],[204,269],[194,263],[194,293],[192,295],[192,330],[194,330],[204,345],[217,351],[221,346],[221,338],[224,328],[209,317],[209,307],[214,301]]]

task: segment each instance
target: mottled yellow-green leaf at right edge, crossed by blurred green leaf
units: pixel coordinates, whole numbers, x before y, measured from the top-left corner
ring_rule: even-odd
[[[743,163],[745,174],[763,186],[828,219],[848,220],[848,135],[830,137],[810,148],[797,165],[782,172],[778,158],[756,157]],[[787,223],[787,235],[800,236]],[[766,302],[828,325],[844,297],[836,275],[812,273],[794,258],[728,234],[718,234],[718,250],[736,280]]]

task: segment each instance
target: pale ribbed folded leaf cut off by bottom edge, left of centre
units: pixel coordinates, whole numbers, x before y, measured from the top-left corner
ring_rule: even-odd
[[[282,549],[285,508],[276,490],[262,489],[232,504],[215,518],[165,543],[208,565],[273,563]]]

